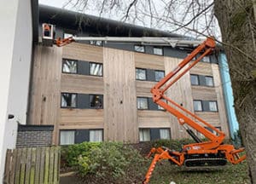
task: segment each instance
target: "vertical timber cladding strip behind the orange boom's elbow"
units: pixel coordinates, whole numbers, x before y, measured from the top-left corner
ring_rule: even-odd
[[[177,67],[178,63],[181,61],[182,60],[177,58],[165,57],[166,74],[171,72],[175,67]],[[193,99],[189,72],[187,72],[183,75],[182,78],[177,80],[177,82],[174,83],[172,87],[166,91],[166,94],[170,99],[176,101],[177,104],[182,104],[183,107],[189,110],[190,112],[193,111]],[[188,134],[185,132],[185,129],[183,129],[182,125],[178,123],[177,118],[175,116],[170,114],[169,118],[172,127],[172,138],[180,139],[189,137]]]

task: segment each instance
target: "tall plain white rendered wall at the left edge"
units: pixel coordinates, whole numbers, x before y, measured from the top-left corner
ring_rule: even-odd
[[[26,124],[26,107],[32,58],[30,0],[0,0],[0,183],[5,153],[14,148],[17,124]],[[8,120],[8,114],[15,118]]]

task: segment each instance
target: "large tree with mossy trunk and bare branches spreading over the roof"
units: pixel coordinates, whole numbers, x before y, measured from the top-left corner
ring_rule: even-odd
[[[100,16],[108,13],[108,17],[193,37],[219,37],[219,23],[223,42],[218,42],[228,57],[249,177],[256,183],[255,0],[69,0],[64,7],[84,13],[97,10]]]

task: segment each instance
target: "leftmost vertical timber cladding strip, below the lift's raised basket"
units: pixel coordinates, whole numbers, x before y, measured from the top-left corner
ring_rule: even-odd
[[[61,103],[61,58],[61,48],[35,47],[28,124],[55,125],[54,142]]]

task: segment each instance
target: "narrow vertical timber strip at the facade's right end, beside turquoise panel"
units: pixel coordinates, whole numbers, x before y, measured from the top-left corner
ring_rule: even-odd
[[[226,109],[224,106],[224,94],[222,89],[221,78],[219,74],[218,65],[212,64],[212,76],[214,80],[214,86],[217,95],[217,103],[218,103],[218,115],[219,115],[219,124],[221,126],[221,130],[224,131],[227,138],[230,137],[229,127],[228,127],[228,119],[226,114]]]

